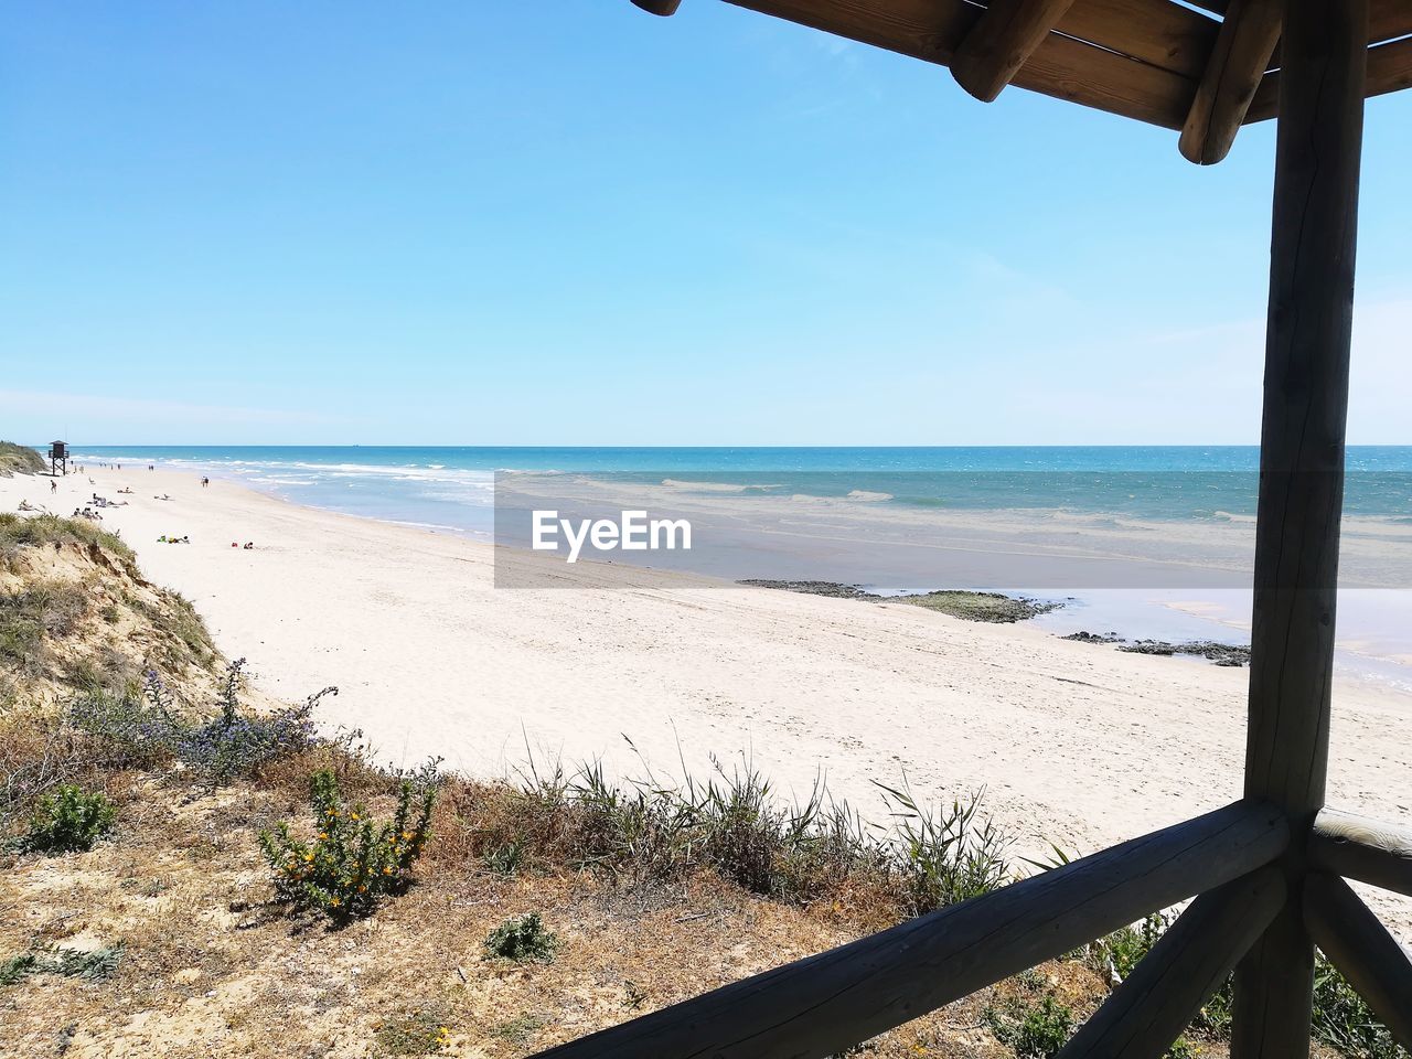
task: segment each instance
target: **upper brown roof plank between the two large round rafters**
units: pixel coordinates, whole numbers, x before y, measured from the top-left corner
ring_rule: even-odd
[[[1206,69],[1220,23],[1172,0],[1075,0],[1059,31],[1192,80]]]

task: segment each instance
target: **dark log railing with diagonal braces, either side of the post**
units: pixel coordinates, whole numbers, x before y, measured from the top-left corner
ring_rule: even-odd
[[[1412,1048],[1412,963],[1343,880],[1412,892],[1412,834],[1327,812],[1308,929]],[[1286,907],[1284,813],[1241,801],[890,931],[541,1052],[544,1059],[825,1059],[1196,897],[1060,1052],[1159,1059]]]

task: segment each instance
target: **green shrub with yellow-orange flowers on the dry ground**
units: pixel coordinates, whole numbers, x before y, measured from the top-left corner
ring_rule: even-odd
[[[359,803],[343,803],[332,770],[309,779],[312,842],[294,837],[287,823],[260,833],[260,847],[274,871],[280,897],[335,921],[370,914],[388,895],[411,884],[412,864],[426,844],[435,785],[419,792],[402,781],[393,819],[376,823]]]

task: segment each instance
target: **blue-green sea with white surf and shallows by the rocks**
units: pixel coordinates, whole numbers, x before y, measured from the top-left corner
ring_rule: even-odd
[[[1056,634],[1250,637],[1255,446],[72,448],[486,541],[511,489],[558,507],[596,491],[724,527],[698,566],[674,561],[727,582],[991,589],[1062,603],[1035,620]],[[1412,693],[1412,446],[1347,450],[1343,551],[1339,665]],[[1099,554],[1121,575],[1094,573]]]

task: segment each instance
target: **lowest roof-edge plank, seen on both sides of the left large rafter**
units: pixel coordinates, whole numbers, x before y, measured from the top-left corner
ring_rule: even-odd
[[[761,14],[947,65],[983,8],[964,0],[727,0]],[[1189,79],[1062,34],[1045,38],[1011,82],[1032,92],[1180,128]]]

